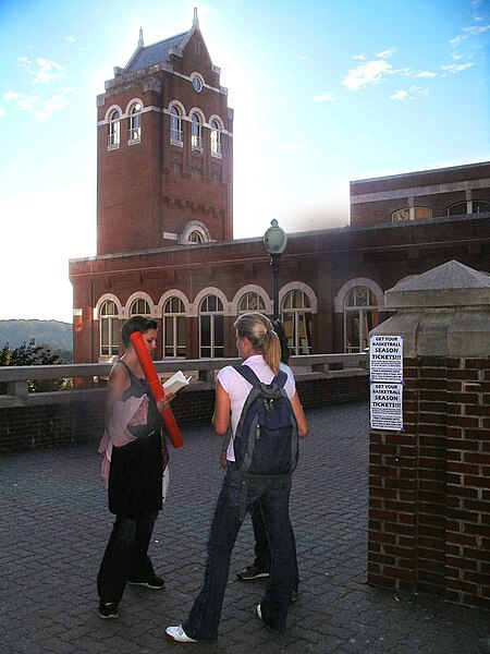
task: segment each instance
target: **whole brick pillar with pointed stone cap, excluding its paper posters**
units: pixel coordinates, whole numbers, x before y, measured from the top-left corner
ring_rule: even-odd
[[[368,581],[490,609],[490,279],[453,261],[385,305],[404,431],[370,432]]]

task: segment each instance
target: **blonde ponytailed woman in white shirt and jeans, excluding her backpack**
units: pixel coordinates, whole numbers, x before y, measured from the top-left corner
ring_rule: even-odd
[[[284,387],[285,393],[282,392],[281,399],[264,402],[269,403],[267,412],[274,410],[274,403],[284,408],[284,403],[287,402],[291,414],[294,414],[292,422],[297,436],[306,437],[308,433],[306,416],[296,392],[294,377],[280,371],[281,346],[271,322],[260,313],[247,313],[237,318],[235,329],[236,347],[243,360],[242,367],[250,368],[262,386],[274,382],[277,392],[274,397],[279,398],[281,395],[278,386]],[[246,377],[250,377],[249,372]],[[226,366],[218,374],[212,425],[218,435],[224,436],[231,421],[233,437],[228,447],[226,473],[208,541],[204,586],[194,602],[187,620],[183,625],[168,627],[166,630],[167,635],[176,642],[217,640],[230,558],[243,523],[243,509],[250,507],[256,500],[266,524],[271,554],[266,594],[262,602],[256,606],[256,615],[273,632],[281,633],[286,628],[291,591],[295,583],[294,545],[290,535],[289,516],[292,475],[285,473],[277,476],[253,476],[244,482],[235,460],[234,440],[237,431],[240,432],[243,426],[244,421],[241,417],[245,414],[244,407],[252,397],[253,390],[254,384],[248,382],[237,367]],[[286,400],[283,399],[284,397]],[[294,465],[295,461],[291,470]]]

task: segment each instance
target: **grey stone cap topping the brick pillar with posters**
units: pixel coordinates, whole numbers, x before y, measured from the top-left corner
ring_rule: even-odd
[[[370,334],[403,335],[405,358],[490,356],[490,277],[452,261],[384,294],[396,313]]]

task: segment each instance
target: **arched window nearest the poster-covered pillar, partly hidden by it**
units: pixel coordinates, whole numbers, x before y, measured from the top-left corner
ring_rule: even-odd
[[[345,351],[369,348],[369,331],[378,325],[378,302],[367,287],[354,287],[344,302]]]

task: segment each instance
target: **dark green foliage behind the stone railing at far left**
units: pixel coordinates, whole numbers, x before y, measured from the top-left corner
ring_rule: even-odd
[[[60,365],[66,363],[58,354],[54,354],[51,348],[46,346],[36,346],[36,340],[32,338],[26,344],[23,342],[19,348],[10,350],[9,343],[5,343],[0,350],[0,365]],[[29,392],[47,392],[51,390],[66,390],[72,388],[71,379],[29,379],[27,382]],[[0,395],[7,393],[7,384],[0,383]]]

